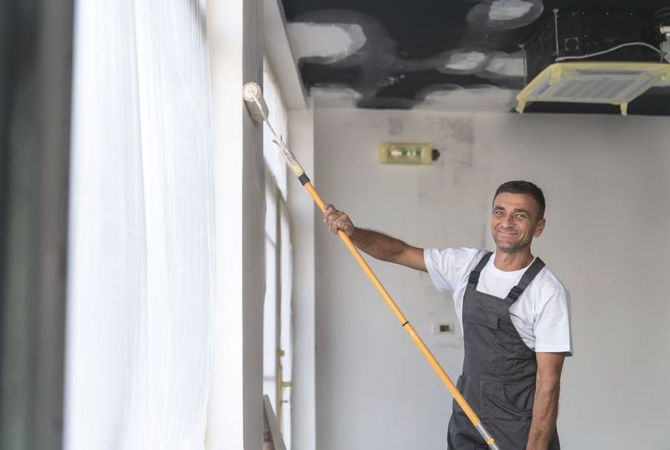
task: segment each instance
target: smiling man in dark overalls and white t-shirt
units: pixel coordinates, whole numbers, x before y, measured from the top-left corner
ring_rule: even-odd
[[[530,251],[545,229],[544,214],[535,184],[501,184],[493,198],[491,253],[424,250],[357,228],[332,205],[324,213],[329,229],[343,230],[362,251],[428,272],[438,290],[453,291],[465,347],[457,386],[503,450],[560,449],[556,418],[563,360],[572,355],[570,294]],[[456,402],[448,448],[488,448]]]

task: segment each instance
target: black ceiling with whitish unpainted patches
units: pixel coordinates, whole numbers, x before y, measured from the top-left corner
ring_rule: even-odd
[[[344,58],[311,54],[299,60],[304,85],[312,93],[324,89],[335,93],[355,91],[354,101],[359,108],[411,109],[428,105],[429,109],[438,110],[442,105],[439,101],[431,105],[434,95],[439,100],[443,93],[452,93],[456,97],[450,97],[445,110],[454,109],[454,105],[460,109],[460,105],[465,110],[511,111],[510,100],[515,103],[513,96],[526,81],[520,71],[523,67],[520,44],[527,43],[553,17],[553,9],[639,12],[656,14],[654,17],[661,19],[670,16],[668,0],[282,0],[282,3],[294,44],[300,39],[310,44],[306,42],[309,33],[295,32],[300,25],[304,26],[303,32],[312,24],[344,25],[353,30],[354,40],[362,31],[364,43]],[[510,20],[512,16],[517,19]],[[501,17],[505,21],[494,20]],[[319,36],[314,38],[328,35]],[[526,111],[619,114],[616,106],[579,103],[531,103]],[[670,87],[652,88],[633,100],[628,112],[670,115]]]

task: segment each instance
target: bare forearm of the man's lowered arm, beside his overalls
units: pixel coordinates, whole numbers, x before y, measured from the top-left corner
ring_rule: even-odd
[[[538,380],[527,450],[547,450],[556,429],[560,379]]]

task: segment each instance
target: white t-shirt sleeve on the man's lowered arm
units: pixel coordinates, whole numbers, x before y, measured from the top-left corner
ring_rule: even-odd
[[[572,356],[570,293],[562,287],[535,311],[535,352],[565,352]]]

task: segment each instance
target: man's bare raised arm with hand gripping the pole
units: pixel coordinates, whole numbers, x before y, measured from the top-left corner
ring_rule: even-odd
[[[373,258],[426,272],[423,248],[413,247],[378,231],[357,228],[349,216],[331,204],[326,205],[324,223],[334,234],[337,234],[338,230],[344,231],[356,247]]]

